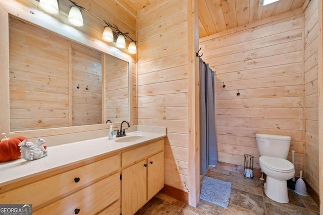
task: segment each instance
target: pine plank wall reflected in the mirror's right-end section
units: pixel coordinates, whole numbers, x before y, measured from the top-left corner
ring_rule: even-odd
[[[104,54],[105,120],[129,119],[128,63]]]

